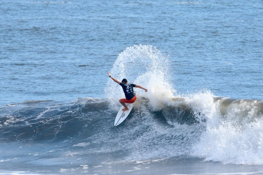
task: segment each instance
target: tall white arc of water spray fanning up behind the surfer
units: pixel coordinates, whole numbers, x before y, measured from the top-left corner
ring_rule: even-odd
[[[111,75],[121,81],[123,78],[134,84],[144,83],[147,93],[137,88],[136,94],[149,99],[152,110],[161,110],[163,102],[173,97],[176,92],[169,84],[169,60],[167,56],[150,45],[127,47],[115,61]],[[105,89],[112,106],[119,106],[118,100],[124,98],[122,88],[111,79]]]

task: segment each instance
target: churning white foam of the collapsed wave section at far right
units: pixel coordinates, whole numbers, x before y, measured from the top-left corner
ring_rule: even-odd
[[[200,140],[193,147],[193,156],[207,161],[235,164],[263,165],[263,120],[258,112],[257,100],[229,100],[224,98],[213,103],[209,93],[206,98],[197,94],[193,110],[205,116],[205,126]],[[199,110],[198,110],[199,108]]]

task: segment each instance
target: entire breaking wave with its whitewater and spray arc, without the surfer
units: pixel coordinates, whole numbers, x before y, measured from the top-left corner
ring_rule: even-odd
[[[145,69],[137,72],[136,66]],[[135,89],[138,98],[122,124],[114,127],[118,99],[124,95],[109,79],[105,99],[0,107],[0,142],[58,144],[64,156],[97,156],[102,162],[201,157],[263,165],[263,101],[216,97],[209,90],[179,96],[170,84],[170,72],[168,57],[155,47],[128,47],[111,74],[148,92]]]

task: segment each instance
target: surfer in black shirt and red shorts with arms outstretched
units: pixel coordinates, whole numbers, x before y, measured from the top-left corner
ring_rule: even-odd
[[[145,92],[147,92],[148,90],[142,86],[139,86],[137,84],[130,84],[128,83],[127,79],[123,79],[122,82],[119,82],[117,79],[113,78],[111,75],[110,75],[110,72],[108,72],[108,75],[111,79],[113,79],[113,81],[115,81],[116,83],[118,83],[120,86],[122,86],[122,89],[123,89],[123,92],[125,94],[125,97],[126,98],[122,98],[120,99],[120,103],[124,106],[124,109],[122,109],[123,111],[127,111],[129,110],[129,108],[126,106],[125,103],[134,103],[135,100],[136,100],[136,95],[133,91],[133,88],[134,87],[138,87],[138,88],[141,88],[143,89]]]

